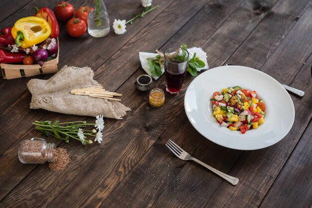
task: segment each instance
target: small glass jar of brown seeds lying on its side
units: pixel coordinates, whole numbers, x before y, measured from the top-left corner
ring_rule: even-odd
[[[22,140],[18,147],[18,159],[22,163],[43,164],[53,162],[54,143],[47,143],[42,138]]]

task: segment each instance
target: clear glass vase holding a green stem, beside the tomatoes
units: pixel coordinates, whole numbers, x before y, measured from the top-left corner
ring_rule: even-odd
[[[92,11],[91,11],[92,10]],[[90,0],[88,13],[88,33],[93,37],[103,37],[110,31],[110,19],[103,0]]]

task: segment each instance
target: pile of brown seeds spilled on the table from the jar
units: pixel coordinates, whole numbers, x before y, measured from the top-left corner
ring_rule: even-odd
[[[63,170],[69,163],[69,156],[66,149],[58,147],[53,150],[53,162],[49,162],[49,168],[52,171]]]

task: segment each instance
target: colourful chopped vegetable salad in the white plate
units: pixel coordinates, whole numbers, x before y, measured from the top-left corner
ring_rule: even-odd
[[[266,106],[257,98],[256,91],[239,86],[224,88],[213,93],[210,102],[217,122],[232,131],[246,133],[264,123]]]

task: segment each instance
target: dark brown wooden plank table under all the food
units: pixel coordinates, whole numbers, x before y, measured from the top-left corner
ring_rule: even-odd
[[[1,0],[0,28],[32,15],[34,5],[53,8],[56,3]],[[71,3],[75,8],[83,4]],[[111,24],[143,10],[140,0],[105,3]],[[60,23],[59,69],[91,67],[95,80],[122,93],[122,103],[132,109],[122,120],[105,119],[102,144],[82,146],[47,137],[70,154],[71,162],[62,171],[18,161],[19,142],[41,136],[31,122],[94,118],[29,109],[26,83],[31,78],[0,80],[0,207],[311,207],[311,0],[154,0],[156,4],[156,10],[127,25],[123,35],[111,31],[103,38],[88,33],[72,38]],[[225,148],[204,138],[184,111],[185,89],[194,79],[189,75],[181,94],[166,93],[164,106],[149,107],[148,94],[134,86],[144,74],[138,53],[181,43],[202,47],[210,68],[225,63],[248,66],[305,91],[303,98],[291,95],[296,117],[288,135],[254,151]],[[156,86],[164,90],[164,76]],[[179,160],[164,145],[168,139],[238,177],[238,185]]]

